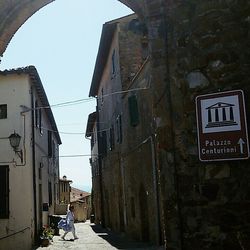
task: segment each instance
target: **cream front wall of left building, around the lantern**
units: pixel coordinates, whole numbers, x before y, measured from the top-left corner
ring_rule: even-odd
[[[29,81],[27,75],[0,76],[0,104],[7,104],[7,119],[0,119],[0,137],[8,137],[14,131],[21,137],[26,164],[14,153],[8,139],[0,140],[0,167],[9,165],[9,219],[0,219],[0,238],[24,230],[24,232],[0,240],[0,249],[18,249],[18,244],[28,249],[34,232],[32,159],[31,159],[31,113],[20,114],[20,105],[30,107]],[[24,120],[26,126],[24,127]],[[25,132],[25,141],[24,141]],[[25,143],[25,147],[23,145]],[[5,248],[4,248],[5,247]]]

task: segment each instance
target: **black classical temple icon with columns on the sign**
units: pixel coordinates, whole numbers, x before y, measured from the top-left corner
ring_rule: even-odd
[[[217,102],[207,107],[206,128],[238,125],[234,120],[234,106],[231,103]]]

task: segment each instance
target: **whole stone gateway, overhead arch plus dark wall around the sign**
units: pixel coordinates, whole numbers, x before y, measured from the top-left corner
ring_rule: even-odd
[[[13,27],[49,1],[19,2],[15,9],[19,18],[3,15],[11,8],[0,8],[1,54],[15,32]],[[249,124],[250,2],[121,2],[139,15],[148,31],[151,123],[166,248],[248,249],[249,160],[199,160],[195,98],[241,89]],[[27,5],[31,7],[24,12]]]

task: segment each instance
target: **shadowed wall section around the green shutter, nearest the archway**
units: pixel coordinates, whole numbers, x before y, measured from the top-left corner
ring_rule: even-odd
[[[147,61],[129,92],[123,96],[123,143],[121,164],[126,201],[126,232],[133,238],[158,244],[159,214],[150,63]],[[144,88],[144,89],[143,89]],[[139,122],[130,124],[129,97],[136,95]]]

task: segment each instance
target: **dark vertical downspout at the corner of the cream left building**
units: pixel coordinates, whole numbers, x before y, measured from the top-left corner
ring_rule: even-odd
[[[34,195],[34,226],[35,226],[35,239],[38,236],[37,230],[37,197],[36,197],[36,150],[35,150],[35,106],[33,88],[31,87],[31,128],[32,128],[32,167],[33,167],[33,195]]]

